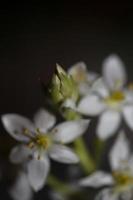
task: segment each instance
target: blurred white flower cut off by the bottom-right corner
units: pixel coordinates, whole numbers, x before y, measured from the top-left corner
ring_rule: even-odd
[[[94,172],[89,177],[82,179],[79,184],[95,188],[109,186],[109,188],[100,192],[96,198],[98,200],[116,200],[119,197],[129,200],[133,194],[133,155],[129,150],[128,140],[122,131],[110,151],[109,158],[111,173]]]

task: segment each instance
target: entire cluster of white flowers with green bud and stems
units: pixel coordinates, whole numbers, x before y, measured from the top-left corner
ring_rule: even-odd
[[[76,63],[68,71],[57,64],[47,88],[53,113],[41,108],[32,121],[15,113],[1,117],[7,133],[18,142],[9,155],[12,163],[21,166],[10,188],[12,198],[30,200],[33,191],[47,184],[53,199],[70,199],[80,193],[81,199],[86,200],[89,196],[84,196],[84,188],[93,187],[96,200],[131,200],[133,153],[130,136],[124,128],[133,131],[133,87],[127,81],[121,59],[117,55],[107,57],[101,75],[88,71],[84,62]],[[98,120],[94,128],[96,155],[90,152],[83,136],[89,135],[89,124],[95,117]],[[106,141],[113,145],[108,150]],[[109,169],[100,167],[104,153]],[[79,165],[78,175],[68,183],[58,180],[51,175],[51,159],[74,164],[75,171]],[[73,177],[72,173],[71,170],[68,176]]]

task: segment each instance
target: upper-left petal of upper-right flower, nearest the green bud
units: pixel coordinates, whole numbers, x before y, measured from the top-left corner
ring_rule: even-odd
[[[92,85],[92,91],[101,97],[107,97],[109,95],[109,90],[103,80],[103,78],[98,78]]]

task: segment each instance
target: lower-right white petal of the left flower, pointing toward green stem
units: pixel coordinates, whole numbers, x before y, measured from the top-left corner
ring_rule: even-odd
[[[49,151],[49,155],[52,159],[61,163],[70,164],[79,162],[77,155],[69,147],[64,145],[53,145]]]

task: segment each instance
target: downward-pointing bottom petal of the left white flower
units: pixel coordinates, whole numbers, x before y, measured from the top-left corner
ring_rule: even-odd
[[[39,191],[44,186],[49,169],[49,160],[47,158],[44,160],[33,159],[28,163],[28,179],[35,191]]]

